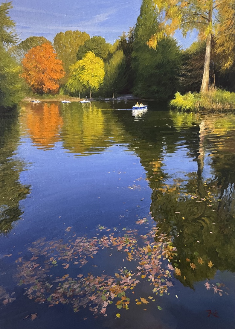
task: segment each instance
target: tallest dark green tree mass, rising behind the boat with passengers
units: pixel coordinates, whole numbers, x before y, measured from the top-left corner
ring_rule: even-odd
[[[158,28],[158,17],[152,0],[144,0],[134,28],[132,90],[141,97],[166,99],[176,91],[181,56],[176,41],[170,37],[159,41],[156,49],[148,47],[149,38]]]

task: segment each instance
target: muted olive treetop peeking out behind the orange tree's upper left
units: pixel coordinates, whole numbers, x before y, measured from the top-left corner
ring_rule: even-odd
[[[21,41],[19,44],[11,47],[9,51],[11,52],[12,56],[15,57],[17,62],[21,63],[22,59],[25,57],[25,54],[27,54],[30,49],[36,46],[41,46],[43,43],[46,42],[51,43],[44,37],[29,37]]]

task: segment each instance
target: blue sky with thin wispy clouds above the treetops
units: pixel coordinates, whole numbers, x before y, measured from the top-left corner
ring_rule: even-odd
[[[142,0],[13,0],[10,11],[20,38],[43,36],[53,41],[66,30],[85,31],[90,36],[102,36],[113,43],[123,31],[133,26]],[[176,34],[185,48],[196,38],[186,39]]]

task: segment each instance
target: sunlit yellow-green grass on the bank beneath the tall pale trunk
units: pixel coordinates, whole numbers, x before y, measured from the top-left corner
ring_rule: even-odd
[[[176,92],[170,105],[184,112],[223,111],[235,109],[235,93],[211,87],[208,92]]]

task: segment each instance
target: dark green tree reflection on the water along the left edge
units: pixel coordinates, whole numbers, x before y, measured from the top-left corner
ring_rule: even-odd
[[[1,116],[0,125],[0,232],[12,229],[12,222],[23,214],[19,203],[29,193],[29,186],[19,179],[23,163],[15,152],[19,143],[17,116]]]

